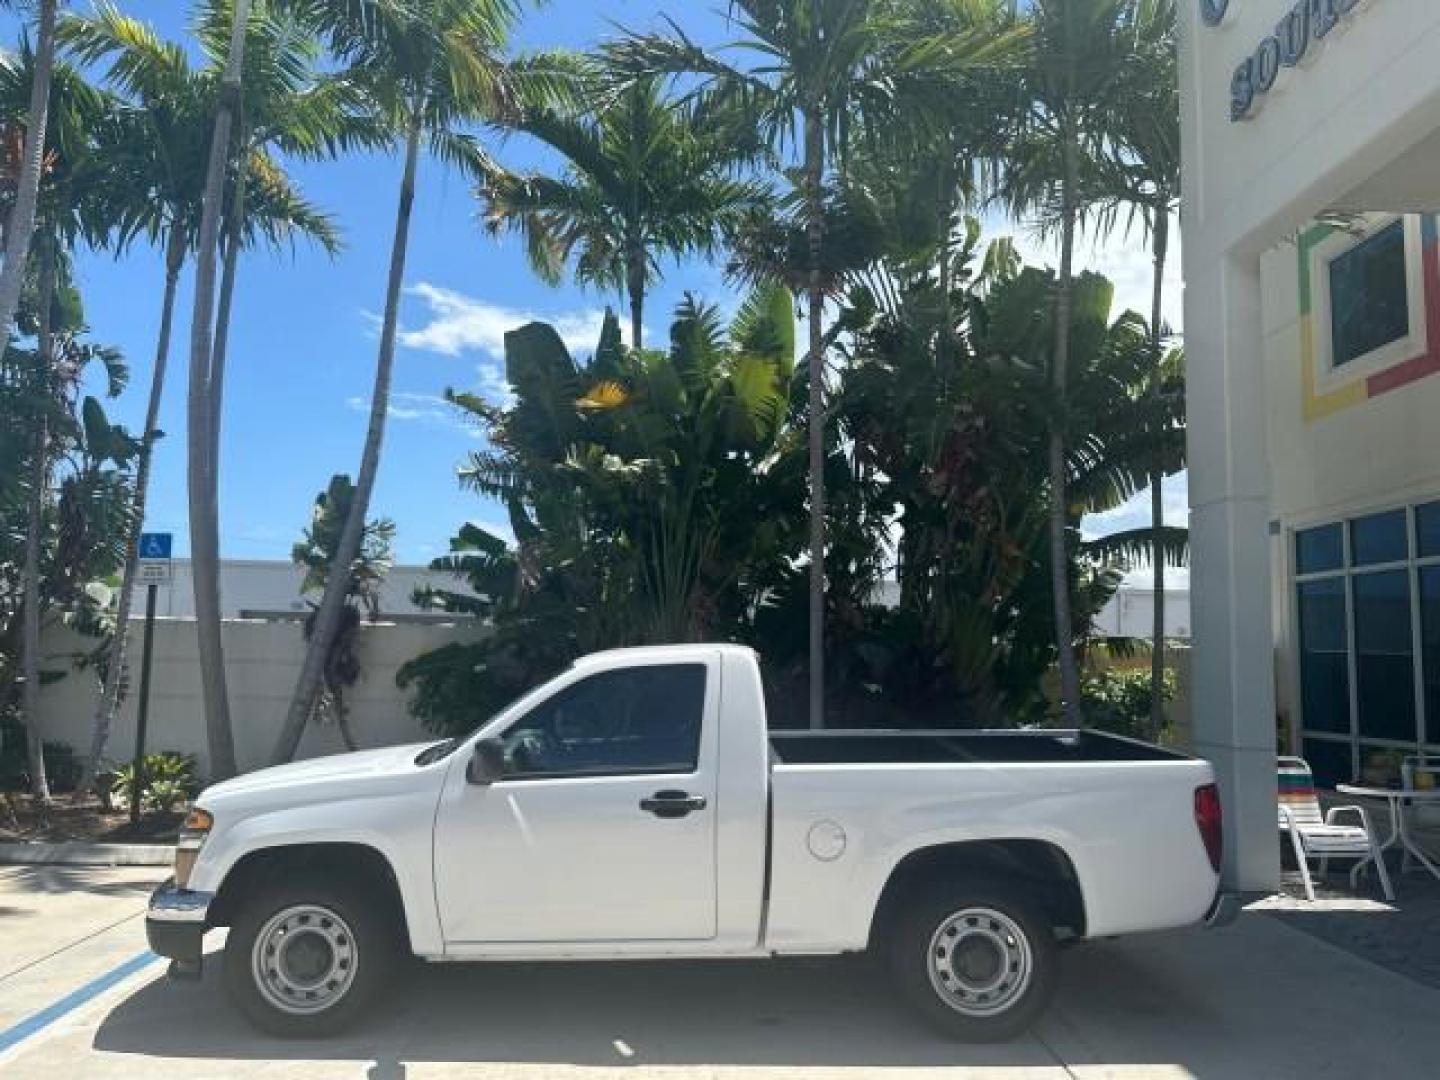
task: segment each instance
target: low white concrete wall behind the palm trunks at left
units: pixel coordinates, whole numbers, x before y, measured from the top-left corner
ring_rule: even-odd
[[[135,706],[140,697],[140,644],[143,622],[131,628],[131,687],[107,756],[128,760],[135,742]],[[409,714],[395,672],[405,661],[452,641],[471,641],[474,628],[444,625],[364,625],[360,658],[364,675],[350,693],[350,724],[361,747],[418,742],[431,737]],[[226,621],[225,668],[229,678],[235,750],[242,770],[258,769],[279,733],[289,693],[300,672],[304,642],[298,624]],[[75,649],[75,638],[59,631],[46,639],[49,655]],[[82,648],[94,647],[85,641]],[[56,664],[50,664],[56,667]],[[156,660],[150,690],[147,746],[150,750],[193,753],[202,775],[209,773],[204,714],[200,707],[200,670],[196,661],[192,619],[156,621]],[[40,691],[46,739],[88,752],[95,714],[96,681],[92,671],[72,671]],[[477,721],[481,717],[477,717]],[[301,757],[344,750],[333,726],[311,724],[300,746]]]

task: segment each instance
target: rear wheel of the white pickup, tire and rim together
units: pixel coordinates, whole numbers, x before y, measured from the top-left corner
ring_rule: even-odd
[[[962,940],[963,952],[948,943]],[[901,996],[965,1043],[1015,1038],[1056,989],[1058,950],[1050,922],[1004,878],[916,893],[896,916],[886,949]]]

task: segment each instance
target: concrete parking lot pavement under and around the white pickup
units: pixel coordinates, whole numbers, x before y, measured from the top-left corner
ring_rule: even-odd
[[[1056,1008],[1001,1047],[935,1038],[858,959],[415,965],[361,1032],[284,1043],[230,1014],[216,963],[171,984],[145,955],[157,876],[0,867],[0,1076],[1433,1076],[1440,991],[1263,913],[1067,950]]]

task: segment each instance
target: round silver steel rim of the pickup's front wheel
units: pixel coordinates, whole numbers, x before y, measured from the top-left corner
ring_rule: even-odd
[[[255,936],[251,972],[281,1012],[310,1015],[338,1002],[356,978],[359,953],[348,923],[328,907],[295,904]]]

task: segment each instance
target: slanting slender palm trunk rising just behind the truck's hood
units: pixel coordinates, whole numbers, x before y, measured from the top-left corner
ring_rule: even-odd
[[[275,742],[271,760],[276,765],[291,760],[305,723],[314,710],[315,694],[324,677],[325,657],[340,629],[340,618],[346,606],[346,590],[350,583],[350,567],[360,552],[364,536],[364,518],[370,510],[370,492],[374,491],[374,477],[380,468],[380,446],[384,442],[384,418],[390,406],[390,376],[395,369],[395,336],[400,318],[400,285],[405,281],[405,255],[410,239],[410,207],[415,203],[415,170],[420,156],[420,124],[423,114],[416,104],[412,107],[410,125],[405,143],[405,173],[400,177],[400,202],[395,213],[395,240],[390,246],[390,278],[384,292],[384,323],[380,327],[380,353],[376,359],[374,389],[370,393],[370,425],[366,429],[364,452],[360,458],[360,475],[356,480],[354,498],[346,516],[340,543],[331,559],[331,573],[325,579],[325,592],[315,611],[310,647],[300,668],[295,694],[289,711]]]

